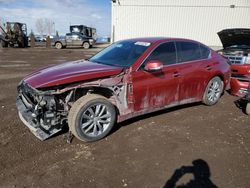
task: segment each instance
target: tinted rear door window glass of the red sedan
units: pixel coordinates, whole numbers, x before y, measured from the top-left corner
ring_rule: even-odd
[[[176,42],[178,62],[201,59],[200,46],[193,42]]]

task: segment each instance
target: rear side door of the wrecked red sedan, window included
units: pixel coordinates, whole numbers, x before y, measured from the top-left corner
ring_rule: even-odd
[[[177,41],[180,79],[180,103],[200,101],[211,73],[210,51],[191,41]]]

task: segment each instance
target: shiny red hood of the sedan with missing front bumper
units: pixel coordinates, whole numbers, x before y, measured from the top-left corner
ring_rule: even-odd
[[[122,70],[121,67],[81,60],[40,69],[26,76],[24,81],[33,88],[44,88],[113,76]]]

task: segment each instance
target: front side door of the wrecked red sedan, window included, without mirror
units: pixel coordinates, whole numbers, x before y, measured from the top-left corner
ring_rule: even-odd
[[[146,71],[149,61],[160,61],[163,68]],[[165,106],[175,106],[179,100],[180,74],[177,64],[175,42],[156,47],[139,70],[132,73],[134,110],[150,112]]]

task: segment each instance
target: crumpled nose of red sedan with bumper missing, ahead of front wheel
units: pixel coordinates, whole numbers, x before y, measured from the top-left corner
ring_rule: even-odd
[[[40,140],[51,137],[63,127],[66,114],[56,100],[53,94],[36,90],[24,81],[18,85],[16,105],[20,119]]]

